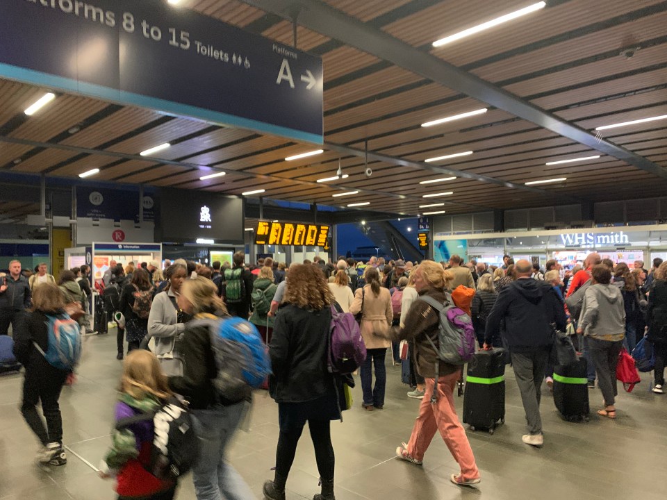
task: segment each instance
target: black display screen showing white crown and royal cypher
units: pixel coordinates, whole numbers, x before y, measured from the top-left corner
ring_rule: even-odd
[[[243,242],[243,200],[205,191],[160,190],[156,241]]]

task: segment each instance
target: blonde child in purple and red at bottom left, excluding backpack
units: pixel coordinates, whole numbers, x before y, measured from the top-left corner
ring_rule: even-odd
[[[132,351],[123,363],[115,420],[118,422],[141,413],[155,412],[170,394],[158,358],[143,349]],[[116,429],[112,441],[111,449],[101,462],[100,476],[115,476],[119,500],[174,498],[176,481],[157,478],[147,470],[151,465],[154,441],[152,419]]]

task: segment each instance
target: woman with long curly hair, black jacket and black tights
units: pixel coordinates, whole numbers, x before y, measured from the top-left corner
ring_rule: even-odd
[[[273,481],[264,483],[269,500],[285,499],[285,483],[308,422],[322,483],[313,500],[334,500],[334,447],[331,420],[340,418],[336,379],[327,371],[331,293],[314,265],[292,265],[287,290],[269,346],[272,397],[278,403],[280,435]]]

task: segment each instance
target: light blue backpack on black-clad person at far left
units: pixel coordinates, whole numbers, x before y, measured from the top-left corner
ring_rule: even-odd
[[[35,349],[52,367],[72,372],[81,358],[81,333],[79,324],[67,314],[47,315],[49,348],[46,352],[33,342]]]

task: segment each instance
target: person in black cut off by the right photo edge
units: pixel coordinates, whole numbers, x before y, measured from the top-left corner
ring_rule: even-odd
[[[664,394],[665,363],[667,363],[667,262],[653,273],[653,287],[648,294],[648,342],[653,344],[655,385],[653,392]]]

